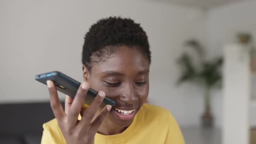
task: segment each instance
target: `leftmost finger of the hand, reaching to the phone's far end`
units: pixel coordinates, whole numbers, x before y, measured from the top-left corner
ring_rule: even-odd
[[[62,119],[65,116],[63,107],[59,101],[58,93],[53,81],[47,80],[47,86],[50,94],[50,104],[53,110],[53,114],[57,120]]]

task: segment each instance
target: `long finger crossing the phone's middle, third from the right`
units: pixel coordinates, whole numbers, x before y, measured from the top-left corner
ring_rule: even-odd
[[[76,92],[75,98],[69,108],[69,118],[68,118],[69,124],[76,125],[76,121],[77,121],[79,112],[81,111],[88,89],[89,89],[89,85],[87,82],[83,82],[79,86]]]

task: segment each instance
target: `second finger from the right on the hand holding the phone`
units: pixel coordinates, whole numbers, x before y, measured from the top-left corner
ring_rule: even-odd
[[[99,106],[102,104],[103,99],[105,98],[105,92],[100,91],[96,95],[95,99],[92,101],[92,104],[89,108],[86,108],[85,111],[82,112],[82,119],[79,123],[81,128],[89,126],[91,124],[92,118],[94,117],[96,111],[98,110]]]

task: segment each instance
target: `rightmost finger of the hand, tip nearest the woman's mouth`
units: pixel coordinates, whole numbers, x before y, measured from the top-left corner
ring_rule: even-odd
[[[93,133],[96,133],[98,131],[98,128],[102,124],[104,118],[108,115],[109,111],[111,110],[112,106],[111,105],[106,105],[105,108],[102,109],[101,113],[98,115],[97,118],[95,118],[94,121],[92,121],[91,124],[91,131]]]

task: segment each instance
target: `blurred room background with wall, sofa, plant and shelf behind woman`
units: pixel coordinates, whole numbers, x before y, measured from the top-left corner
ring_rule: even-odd
[[[0,144],[40,143],[53,114],[35,75],[82,82],[83,37],[108,16],[147,32],[148,103],[187,144],[256,144],[255,13],[256,0],[0,0]]]

